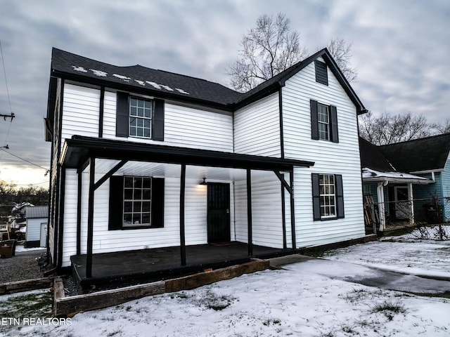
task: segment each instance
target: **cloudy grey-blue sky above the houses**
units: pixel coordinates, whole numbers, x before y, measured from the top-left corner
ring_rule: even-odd
[[[0,146],[9,145],[0,180],[48,186],[43,118],[53,46],[228,86],[243,34],[278,12],[309,53],[334,38],[352,44],[352,85],[368,110],[450,117],[448,0],[0,0],[0,114],[16,116],[0,119]]]

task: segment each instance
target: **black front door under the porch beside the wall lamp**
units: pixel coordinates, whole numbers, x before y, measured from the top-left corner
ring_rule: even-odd
[[[208,242],[230,241],[230,185],[208,183]]]

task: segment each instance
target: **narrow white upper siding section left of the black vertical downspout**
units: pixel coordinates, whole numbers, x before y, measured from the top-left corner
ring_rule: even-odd
[[[98,137],[100,90],[65,84],[61,146],[74,135]]]

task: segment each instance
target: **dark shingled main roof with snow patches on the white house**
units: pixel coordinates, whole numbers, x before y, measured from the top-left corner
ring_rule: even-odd
[[[147,95],[155,95],[160,98],[172,98],[191,103],[199,103],[210,107],[234,111],[239,107],[248,105],[259,98],[278,91],[285,81],[302,70],[317,58],[322,57],[330,70],[338,79],[349,98],[356,106],[358,114],[366,112],[361,100],[354,93],[352,87],[345,79],[338,65],[326,48],[298,62],[287,70],[276,75],[272,79],[248,91],[238,93],[226,86],[214,82],[188,77],[172,72],[155,70],[141,65],[130,67],[118,67],[108,63],[91,60],[83,56],[61,51],[53,48],[51,59],[51,76],[72,79],[74,81],[89,82],[96,85],[108,85],[117,90],[132,91]],[[49,89],[49,110],[54,103],[51,82]],[[48,114],[49,116],[49,114]]]

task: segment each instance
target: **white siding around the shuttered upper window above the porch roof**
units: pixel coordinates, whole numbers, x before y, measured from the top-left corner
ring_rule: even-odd
[[[208,111],[165,102],[164,142],[115,136],[116,94],[105,92],[103,137],[203,150],[233,152],[231,112]]]

